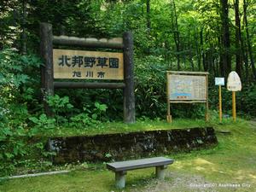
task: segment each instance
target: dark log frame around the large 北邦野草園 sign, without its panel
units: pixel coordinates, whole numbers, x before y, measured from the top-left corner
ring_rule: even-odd
[[[124,80],[123,82],[77,82],[77,81],[55,81],[53,70],[53,47],[71,46],[93,49],[114,49],[123,53]],[[40,23],[40,55],[44,64],[40,66],[41,90],[44,102],[44,112],[48,116],[54,113],[47,101],[47,96],[53,96],[55,89],[122,89],[124,102],[124,122],[135,123],[135,94],[134,94],[134,73],[133,73],[133,35],[131,32],[124,32],[122,38],[77,38],[67,36],[54,36],[52,25]]]

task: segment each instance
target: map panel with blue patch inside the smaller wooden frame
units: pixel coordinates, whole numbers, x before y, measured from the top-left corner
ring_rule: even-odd
[[[168,96],[171,101],[207,100],[206,76],[168,74]]]

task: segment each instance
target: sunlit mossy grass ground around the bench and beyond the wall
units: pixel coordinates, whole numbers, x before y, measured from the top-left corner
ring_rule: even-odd
[[[201,125],[183,121],[189,127]],[[163,127],[162,122],[146,122],[149,129],[179,127],[180,122]],[[181,125],[180,127],[183,127]],[[218,136],[218,147],[191,153],[170,154],[175,160],[168,167],[166,180],[154,179],[154,168],[128,172],[124,191],[256,191],[256,123],[227,119],[223,125],[212,122]],[[111,132],[117,131],[119,125]],[[141,130],[141,129],[140,129]],[[147,128],[148,130],[148,128]],[[224,134],[220,131],[230,131]],[[94,168],[93,168],[94,167]],[[203,186],[203,184],[205,184]],[[232,186],[230,186],[232,185]],[[66,174],[9,179],[0,183],[0,191],[122,191],[114,188],[114,174],[103,164]]]

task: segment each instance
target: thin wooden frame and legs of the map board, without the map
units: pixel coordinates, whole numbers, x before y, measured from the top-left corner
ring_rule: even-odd
[[[170,75],[189,75],[189,76],[201,76],[206,77],[206,98],[202,100],[170,100]],[[166,71],[166,102],[167,102],[167,115],[166,120],[168,123],[172,122],[171,115],[171,103],[205,103],[206,113],[205,119],[208,121],[209,119],[209,104],[208,104],[208,75],[207,72],[183,72],[183,71]]]

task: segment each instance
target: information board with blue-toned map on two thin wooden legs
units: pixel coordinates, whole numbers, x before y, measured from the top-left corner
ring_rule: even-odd
[[[208,120],[208,73],[166,72],[167,121],[172,122],[170,103],[206,103]]]

